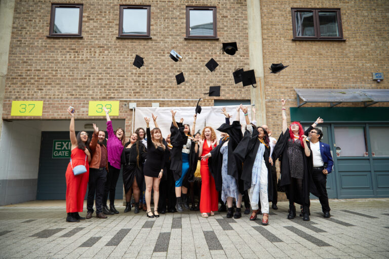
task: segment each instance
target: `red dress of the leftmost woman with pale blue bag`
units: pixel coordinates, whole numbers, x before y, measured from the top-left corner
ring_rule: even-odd
[[[87,167],[87,171],[84,174],[74,176],[73,169],[70,162],[66,169],[66,212],[82,212],[84,207],[85,193],[87,192],[88,179],[89,179],[89,163],[88,157],[85,162],[85,152],[82,149],[74,148],[71,151],[71,164],[84,165]]]

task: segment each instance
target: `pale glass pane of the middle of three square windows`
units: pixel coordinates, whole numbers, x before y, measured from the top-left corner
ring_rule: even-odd
[[[147,34],[147,9],[124,9],[122,33]]]

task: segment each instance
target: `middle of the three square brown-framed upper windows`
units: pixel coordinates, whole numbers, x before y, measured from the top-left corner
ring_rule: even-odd
[[[119,36],[150,38],[151,6],[120,6]]]

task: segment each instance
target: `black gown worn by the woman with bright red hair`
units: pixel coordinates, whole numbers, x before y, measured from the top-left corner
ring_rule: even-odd
[[[310,127],[312,129],[312,127]],[[309,131],[309,128],[306,132]],[[281,179],[280,179],[280,186],[287,186],[291,183],[291,176],[290,176],[290,170],[289,170],[289,160],[288,160],[288,151],[287,151],[287,142],[290,138],[289,134],[289,128],[286,130],[285,134],[281,133],[280,137],[278,138],[277,144],[274,147],[272,158],[275,162],[277,159],[281,162]],[[310,150],[309,141],[306,142],[308,145],[308,148]],[[301,147],[302,157],[304,161],[304,172],[303,172],[303,197],[302,200],[294,200],[292,202],[296,202],[298,204],[309,204],[309,192],[312,193],[315,196],[318,196],[318,191],[316,189],[316,186],[312,180],[312,168],[313,168],[313,157],[312,157],[312,151],[310,151],[310,156],[305,156],[304,149]],[[286,192],[286,196],[289,199],[290,196],[288,194],[288,191]]]

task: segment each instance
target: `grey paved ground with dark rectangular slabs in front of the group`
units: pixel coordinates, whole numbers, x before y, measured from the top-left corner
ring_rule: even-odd
[[[119,214],[80,223],[65,222],[64,201],[0,207],[0,258],[389,258],[388,198],[330,200],[329,219],[312,200],[309,222],[287,220],[279,202],[268,226],[225,212],[149,219],[116,203]]]

